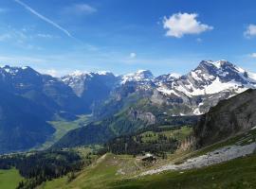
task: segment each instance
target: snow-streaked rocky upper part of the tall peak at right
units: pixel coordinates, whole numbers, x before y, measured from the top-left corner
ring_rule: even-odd
[[[227,60],[205,60],[188,75],[174,79],[172,84],[164,85],[160,81],[157,86],[157,91],[162,94],[179,92],[189,97],[222,91],[239,94],[249,88],[256,88],[256,74],[248,73]]]

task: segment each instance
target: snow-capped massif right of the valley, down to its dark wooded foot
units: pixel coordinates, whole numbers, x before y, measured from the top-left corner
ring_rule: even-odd
[[[208,112],[220,100],[255,88],[255,76],[220,60],[202,61],[185,76],[154,77],[150,71],[141,70],[117,77],[107,100],[94,109],[101,122],[69,131],[55,146],[74,146],[71,141],[79,141],[79,145],[102,143],[102,139],[106,141],[148,126],[192,123],[194,115]],[[183,119],[177,120],[178,116]],[[90,131],[95,127],[103,131]]]

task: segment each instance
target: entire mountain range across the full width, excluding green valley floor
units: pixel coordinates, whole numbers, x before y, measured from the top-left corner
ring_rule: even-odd
[[[84,144],[102,143],[146,126],[173,123],[176,116],[203,114],[249,88],[256,88],[256,74],[227,60],[204,60],[187,75],[159,77],[140,70],[125,76],[76,72],[56,78],[30,67],[4,66],[0,68],[0,153],[40,146],[54,132],[47,121],[60,117],[73,120],[78,114],[93,113],[98,122],[85,127],[86,133],[72,130],[66,136],[76,132]]]

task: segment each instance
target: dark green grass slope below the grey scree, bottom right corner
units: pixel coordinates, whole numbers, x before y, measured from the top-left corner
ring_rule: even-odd
[[[109,188],[255,188],[256,155],[228,163],[182,172],[166,172],[142,179],[113,182]]]

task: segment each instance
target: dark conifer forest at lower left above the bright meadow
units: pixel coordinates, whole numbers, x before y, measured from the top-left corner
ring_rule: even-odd
[[[73,151],[40,151],[31,154],[11,154],[0,157],[0,169],[15,167],[25,178],[18,189],[33,189],[46,180],[60,178],[81,170],[84,162]]]

